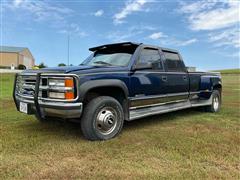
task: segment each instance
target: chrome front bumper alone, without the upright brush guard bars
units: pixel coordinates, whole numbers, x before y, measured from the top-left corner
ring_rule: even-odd
[[[16,106],[19,110],[20,102],[28,104],[28,114],[36,114],[36,106],[34,101],[16,96]],[[42,117],[59,117],[63,119],[80,118],[82,114],[83,104],[81,102],[63,103],[63,102],[44,102],[39,100],[39,108]]]

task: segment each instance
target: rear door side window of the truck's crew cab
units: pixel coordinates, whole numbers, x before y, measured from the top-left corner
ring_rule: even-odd
[[[167,67],[168,71],[184,71],[183,63],[177,53],[167,51],[163,51],[163,53],[166,58],[165,66]]]

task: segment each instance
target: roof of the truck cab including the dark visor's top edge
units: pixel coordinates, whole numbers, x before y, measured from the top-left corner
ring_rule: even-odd
[[[101,46],[96,46],[96,47],[92,47],[89,48],[89,51],[97,51],[100,49],[105,49],[107,47],[117,47],[117,46],[140,46],[140,45],[144,45],[144,46],[148,46],[148,47],[152,47],[152,48],[160,48],[163,51],[170,51],[170,52],[175,52],[178,53],[177,50],[175,49],[169,49],[169,48],[163,48],[163,47],[159,47],[159,46],[155,46],[155,45],[148,45],[148,44],[143,44],[143,43],[136,43],[136,42],[121,42],[121,43],[113,43],[113,44],[104,44]]]

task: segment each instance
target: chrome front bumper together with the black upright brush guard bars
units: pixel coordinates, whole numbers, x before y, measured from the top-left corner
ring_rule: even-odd
[[[40,74],[37,75],[37,81],[35,85],[35,96],[32,99],[22,97],[15,93],[16,91],[16,79],[14,83],[13,98],[17,110],[19,111],[20,102],[27,104],[27,114],[36,114],[39,117],[59,117],[62,119],[80,118],[83,110],[83,104],[78,101],[74,102],[55,102],[46,101],[38,97],[39,79]]]

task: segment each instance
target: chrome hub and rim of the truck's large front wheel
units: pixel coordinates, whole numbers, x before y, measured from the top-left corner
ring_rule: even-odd
[[[111,134],[117,125],[117,112],[111,107],[102,108],[96,119],[97,130],[104,135]]]

